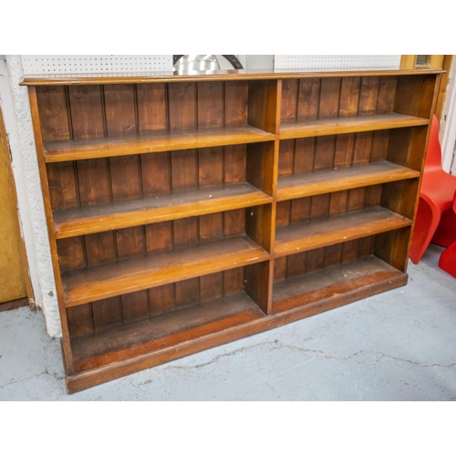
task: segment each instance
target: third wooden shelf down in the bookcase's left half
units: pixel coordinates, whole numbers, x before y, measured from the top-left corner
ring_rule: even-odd
[[[62,273],[65,306],[79,306],[266,259],[268,255],[248,236],[236,236],[175,251],[78,268]]]

